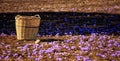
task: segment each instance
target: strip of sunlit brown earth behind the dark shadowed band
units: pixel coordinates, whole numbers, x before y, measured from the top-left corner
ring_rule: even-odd
[[[100,12],[120,14],[120,0],[0,0],[6,12]]]

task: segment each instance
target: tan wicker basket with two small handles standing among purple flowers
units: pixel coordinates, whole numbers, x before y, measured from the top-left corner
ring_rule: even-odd
[[[20,16],[15,17],[16,20],[16,33],[18,40],[34,40],[36,39],[40,16]]]

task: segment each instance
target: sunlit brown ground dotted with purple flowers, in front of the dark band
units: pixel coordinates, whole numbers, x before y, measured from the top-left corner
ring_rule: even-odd
[[[16,35],[0,35],[0,61],[120,61],[120,36],[46,35],[35,41],[18,41]]]

